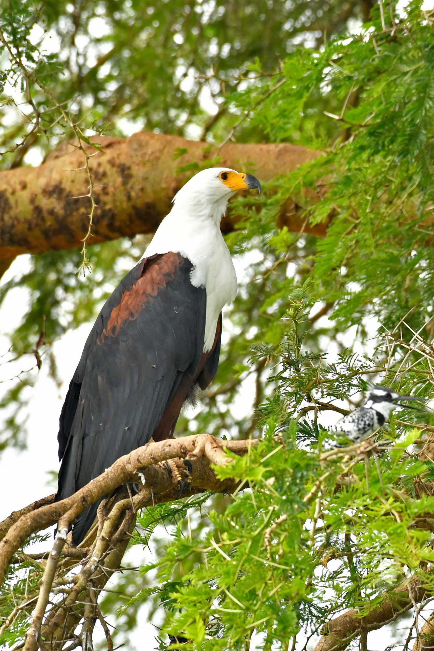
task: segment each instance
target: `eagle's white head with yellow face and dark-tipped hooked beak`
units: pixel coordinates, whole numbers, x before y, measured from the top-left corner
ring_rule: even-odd
[[[251,174],[229,167],[210,167],[190,178],[173,197],[173,204],[177,210],[193,211],[196,217],[220,222],[232,195],[237,190],[254,188],[261,193],[261,184]]]

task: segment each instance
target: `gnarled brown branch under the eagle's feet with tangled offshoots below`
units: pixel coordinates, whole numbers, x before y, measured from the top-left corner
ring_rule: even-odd
[[[48,559],[40,559],[42,564],[45,562],[44,573],[38,594],[30,598],[32,603],[35,599],[37,601],[26,641],[17,648],[36,651],[38,647],[44,648],[48,641],[50,648],[61,648],[65,641],[88,648],[94,624],[100,617],[98,594],[104,589],[111,574],[121,565],[134,529],[137,510],[179,499],[176,484],[179,476],[184,480],[187,478],[185,458],[192,464],[192,473],[188,476],[189,488],[182,497],[204,490],[233,492],[238,482],[232,479],[220,481],[211,465],[231,463],[225,450],[244,454],[251,445],[257,443],[258,441],[222,441],[208,434],[151,442],[117,460],[105,473],[72,497],[53,503],[53,495],[50,495],[14,512],[0,523],[0,532],[4,534],[0,543],[0,564],[5,572],[8,564],[14,562],[12,555],[17,551],[17,546],[30,533],[41,531],[58,521],[57,536]],[[175,469],[172,477],[169,477],[166,467],[160,464],[163,460],[172,460]],[[132,495],[125,485],[121,486],[126,481],[141,487],[139,492]],[[72,549],[65,544],[68,527],[76,516],[103,495],[113,494],[113,490],[114,495],[100,504],[98,523],[89,531],[81,545]],[[74,551],[77,553],[71,553]],[[77,559],[80,559],[80,572],[68,574]],[[64,598],[53,601],[50,597],[53,590],[63,592]],[[44,620],[49,603],[51,605]],[[8,622],[14,620],[16,613],[12,615]],[[8,622],[6,626],[9,626]],[[81,626],[79,634],[77,626]]]

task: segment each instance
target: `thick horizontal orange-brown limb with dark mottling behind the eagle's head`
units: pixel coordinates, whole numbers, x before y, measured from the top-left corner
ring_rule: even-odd
[[[220,152],[207,143],[156,133],[128,139],[95,138],[104,148],[91,158],[96,208],[89,243],[153,232],[169,212],[171,199],[186,176],[180,167],[220,157],[219,164],[255,174],[265,182],[317,156],[295,145],[225,145]],[[179,156],[182,150],[182,155]],[[40,167],[0,173],[0,275],[21,253],[44,253],[81,245],[90,210],[83,154],[71,143],[51,152]],[[74,197],[80,197],[75,198]],[[237,215],[229,214],[224,231]],[[280,225],[299,230],[295,202],[282,207]],[[311,229],[323,234],[325,225]]]

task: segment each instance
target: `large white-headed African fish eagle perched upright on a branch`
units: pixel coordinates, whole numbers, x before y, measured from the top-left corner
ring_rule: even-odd
[[[175,195],[143,257],[104,304],[60,417],[59,488],[69,497],[151,437],[173,435],[182,404],[205,389],[220,354],[222,308],[237,294],[220,232],[229,198],[257,188],[250,174],[212,167]],[[98,504],[72,529],[83,540]]]

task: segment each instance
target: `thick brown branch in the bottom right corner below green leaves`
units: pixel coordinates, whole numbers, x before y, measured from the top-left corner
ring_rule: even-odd
[[[395,590],[385,592],[381,604],[363,618],[359,611],[349,610],[328,622],[323,627],[323,635],[313,651],[343,651],[362,630],[373,631],[381,628],[409,610],[413,601],[420,603],[426,596],[426,588],[420,579],[413,577],[411,581],[406,581]]]

